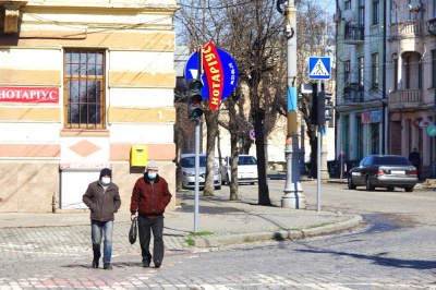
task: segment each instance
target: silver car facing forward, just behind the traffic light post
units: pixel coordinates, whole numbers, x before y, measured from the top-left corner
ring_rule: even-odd
[[[206,154],[199,154],[198,184],[204,188],[206,178]],[[182,154],[181,156],[182,185],[184,189],[195,189],[195,154]],[[221,189],[221,172],[215,162],[214,186]]]

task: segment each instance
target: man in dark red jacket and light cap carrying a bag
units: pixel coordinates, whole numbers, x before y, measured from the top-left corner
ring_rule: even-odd
[[[138,213],[138,231],[143,267],[149,267],[152,262],[159,268],[164,259],[164,213],[171,201],[171,193],[168,190],[167,181],[157,174],[159,170],[156,161],[148,161],[144,177],[140,178],[132,192],[130,212],[131,220]],[[149,243],[154,237],[153,256],[149,251]]]

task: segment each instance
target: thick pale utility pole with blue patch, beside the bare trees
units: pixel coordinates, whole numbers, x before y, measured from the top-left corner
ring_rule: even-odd
[[[287,176],[284,184],[284,195],[281,198],[281,207],[305,208],[306,200],[303,195],[300,178],[300,149],[296,125],[296,8],[294,0],[288,0],[286,7],[286,36],[287,36],[287,65],[288,65],[288,134],[286,140],[284,156],[287,160]],[[278,0],[278,10],[280,3]],[[302,141],[303,142],[303,141]]]

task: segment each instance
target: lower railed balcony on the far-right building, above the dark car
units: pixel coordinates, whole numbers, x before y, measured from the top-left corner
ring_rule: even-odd
[[[399,89],[389,94],[390,109],[423,109],[425,102],[423,89]]]

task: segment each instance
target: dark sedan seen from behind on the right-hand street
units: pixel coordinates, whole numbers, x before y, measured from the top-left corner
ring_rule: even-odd
[[[349,190],[365,186],[367,191],[386,188],[393,191],[402,188],[412,192],[417,183],[416,168],[403,156],[368,155],[348,176]]]

